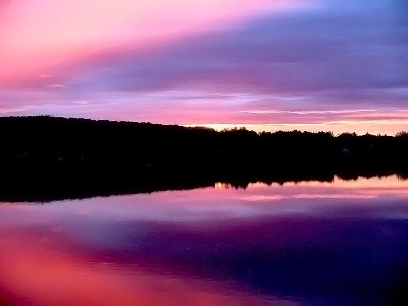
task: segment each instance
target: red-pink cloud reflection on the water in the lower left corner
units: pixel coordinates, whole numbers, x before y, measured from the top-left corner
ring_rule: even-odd
[[[271,301],[213,281],[162,270],[89,263],[61,237],[3,232],[0,284],[7,304],[34,305],[295,305]],[[58,246],[56,241],[59,240]],[[1,301],[1,296],[0,296]]]

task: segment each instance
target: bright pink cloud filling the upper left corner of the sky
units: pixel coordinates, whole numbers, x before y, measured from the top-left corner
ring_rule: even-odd
[[[2,12],[0,81],[46,75],[64,64],[132,46],[165,44],[238,18],[304,0],[25,0]]]

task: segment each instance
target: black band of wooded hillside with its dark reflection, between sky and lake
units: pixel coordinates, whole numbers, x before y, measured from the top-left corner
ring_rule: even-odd
[[[128,193],[214,181],[285,182],[406,173],[408,133],[217,132],[49,116],[0,117],[3,193]],[[7,191],[7,192],[6,192]],[[91,193],[92,193],[91,192]]]

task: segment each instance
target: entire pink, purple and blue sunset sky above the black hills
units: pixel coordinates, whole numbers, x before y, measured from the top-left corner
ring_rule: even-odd
[[[0,115],[408,130],[406,0],[0,0]]]

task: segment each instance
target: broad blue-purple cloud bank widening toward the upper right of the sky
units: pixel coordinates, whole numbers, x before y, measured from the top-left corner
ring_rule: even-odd
[[[408,97],[406,5],[329,1],[193,37],[151,55],[90,67],[73,84],[113,91],[292,93],[317,102],[390,103]]]

